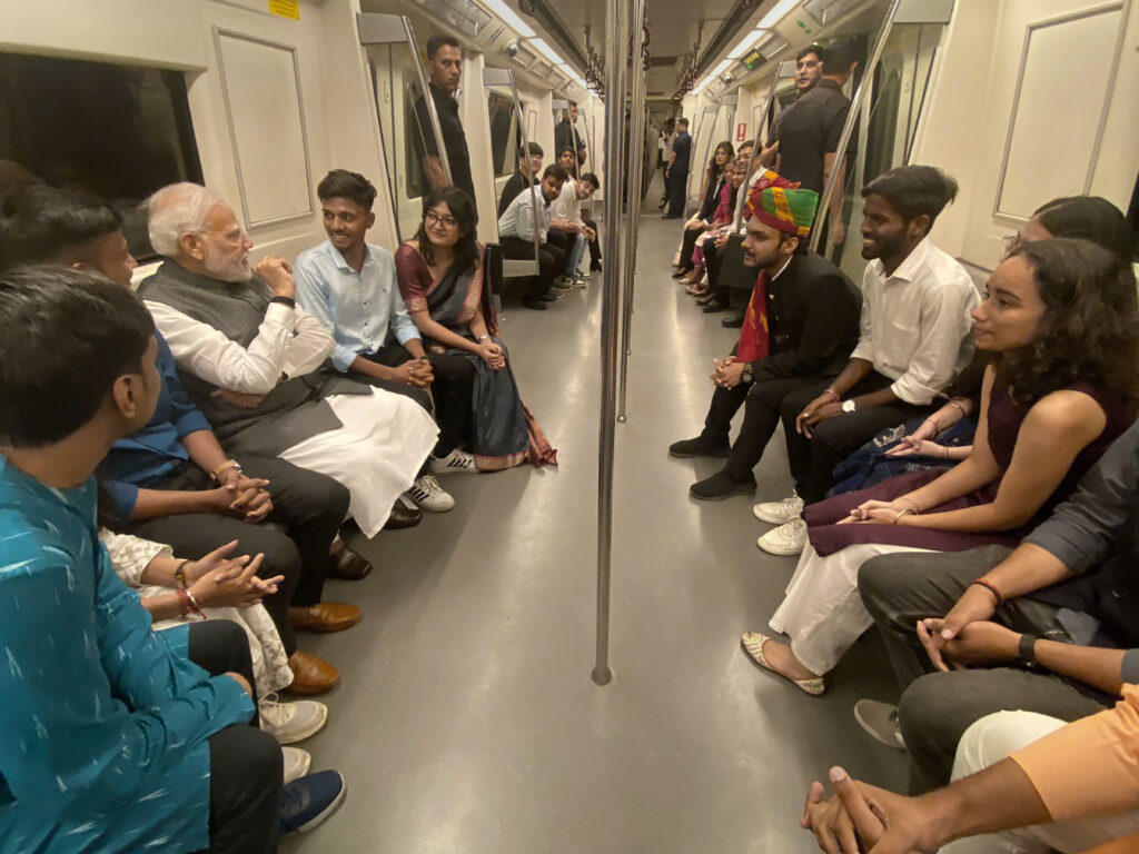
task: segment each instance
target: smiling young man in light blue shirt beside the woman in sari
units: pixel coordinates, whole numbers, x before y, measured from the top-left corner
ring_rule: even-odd
[[[474,457],[458,447],[467,435],[474,369],[465,359],[424,350],[400,296],[395,258],[364,239],[376,221],[371,182],[337,169],[320,182],[317,196],[328,240],[301,253],[293,265],[297,303],[335,338],[330,361],[336,370],[407,395],[435,414],[439,442],[407,496],[424,510],[450,510],[454,499],[431,469],[475,471]]]

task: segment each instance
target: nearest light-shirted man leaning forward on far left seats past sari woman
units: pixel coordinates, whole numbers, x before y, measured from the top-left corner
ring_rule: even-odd
[[[499,241],[502,254],[508,258],[533,260],[534,229],[538,229],[538,276],[531,277],[531,284],[523,299],[527,309],[546,311],[546,303],[557,297],[550,293],[554,280],[565,269],[566,253],[549,243],[550,205],[559,195],[566,182],[566,171],[557,163],[551,163],[542,173],[540,183],[524,190],[509,204],[499,217]],[[567,289],[567,288],[563,288]]]

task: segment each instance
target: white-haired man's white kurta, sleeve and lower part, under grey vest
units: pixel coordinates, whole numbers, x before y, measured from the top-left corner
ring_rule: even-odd
[[[316,370],[335,346],[312,315],[280,303],[270,304],[248,347],[169,305],[147,302],[147,307],[179,368],[243,394],[267,394],[282,373]],[[351,493],[349,514],[366,536],[375,536],[415,482],[439,427],[402,394],[372,388],[326,400],[343,427],[306,438],[280,457],[344,484]]]

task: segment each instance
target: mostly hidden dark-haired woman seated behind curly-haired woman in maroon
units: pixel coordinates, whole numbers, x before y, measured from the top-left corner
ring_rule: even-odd
[[[1131,228],[1115,205],[1098,196],[1066,196],[1041,205],[1008,251],[1050,237],[1079,237],[1131,261]],[[865,490],[895,475],[923,469],[948,469],[972,451],[980,405],[981,380],[989,356],[978,352],[949,388],[950,401],[920,422],[883,430],[835,469],[836,486],[828,498]]]

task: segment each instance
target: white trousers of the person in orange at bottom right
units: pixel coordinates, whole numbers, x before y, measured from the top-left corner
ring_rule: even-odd
[[[997,712],[969,726],[957,746],[953,779],[994,765],[1009,754],[1064,726],[1035,712]],[[1093,758],[1093,757],[1089,757]],[[1139,811],[1084,821],[1057,821],[950,843],[941,854],[1077,854],[1139,832]]]

